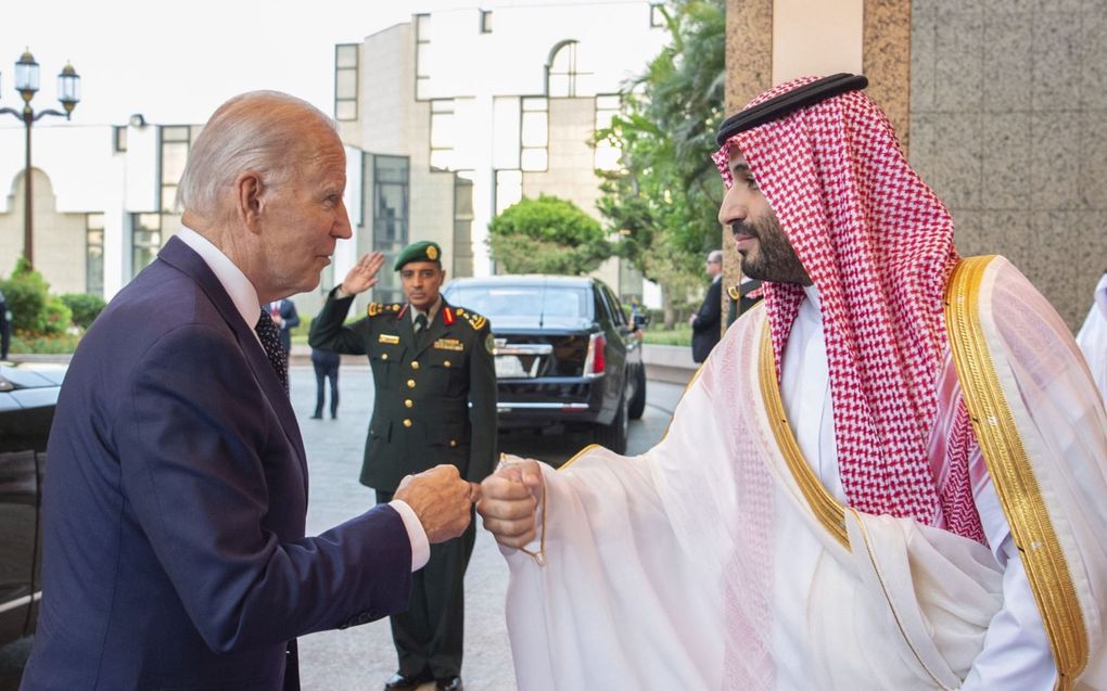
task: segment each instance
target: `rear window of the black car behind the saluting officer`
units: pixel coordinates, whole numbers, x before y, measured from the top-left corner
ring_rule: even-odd
[[[497,317],[582,320],[591,317],[588,291],[566,285],[455,285],[449,302]]]

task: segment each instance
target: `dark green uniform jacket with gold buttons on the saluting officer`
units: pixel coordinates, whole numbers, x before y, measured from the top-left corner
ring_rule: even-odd
[[[369,356],[376,396],[362,484],[394,492],[404,475],[439,463],[456,465],[466,480],[484,480],[496,456],[488,321],[443,299],[416,343],[408,305],[370,303],[364,318],[343,325],[352,302],[332,291],[311,324],[310,342]]]

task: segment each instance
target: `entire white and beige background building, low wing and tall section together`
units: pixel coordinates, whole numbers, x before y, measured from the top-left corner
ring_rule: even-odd
[[[612,27],[621,27],[618,32]],[[335,46],[332,115],[346,144],[342,241],[304,314],[370,250],[438,242],[451,276],[494,270],[492,218],[524,196],[556,195],[597,216],[596,169],[618,151],[590,140],[668,32],[649,2],[451,10]],[[111,299],[180,228],[177,182],[203,125],[54,125],[34,132],[35,268],[59,293]],[[0,275],[23,244],[22,129],[0,128]],[[641,276],[599,274],[624,295]],[[401,297],[383,272],[374,300]],[[362,301],[368,296],[362,296]],[[359,305],[360,307],[361,305]]]

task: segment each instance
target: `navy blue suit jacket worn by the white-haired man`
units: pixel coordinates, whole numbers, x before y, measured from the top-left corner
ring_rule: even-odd
[[[392,507],[304,537],[288,397],[175,238],[82,341],[48,458],[22,689],[297,688],[289,641],[407,605],[411,543]]]

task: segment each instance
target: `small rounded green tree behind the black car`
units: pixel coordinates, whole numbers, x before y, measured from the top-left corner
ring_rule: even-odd
[[[506,273],[580,275],[611,256],[599,221],[566,199],[524,198],[488,223],[492,258]]]

